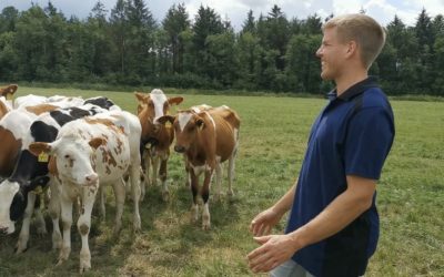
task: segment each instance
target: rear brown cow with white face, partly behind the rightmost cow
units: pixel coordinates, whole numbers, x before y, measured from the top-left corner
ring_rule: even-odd
[[[142,125],[141,153],[142,167],[144,170],[145,185],[157,185],[158,174],[162,182],[162,197],[169,198],[167,182],[167,163],[170,157],[170,146],[174,140],[174,131],[171,125],[159,124],[158,120],[169,114],[171,105],[182,103],[183,98],[167,98],[162,90],[154,89],[149,94],[135,93],[139,100],[138,116]],[[151,168],[152,167],[152,168]],[[150,178],[150,170],[152,176]],[[145,187],[142,185],[142,196]]]

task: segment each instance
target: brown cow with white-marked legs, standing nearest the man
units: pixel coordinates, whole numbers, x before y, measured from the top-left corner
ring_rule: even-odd
[[[233,195],[234,158],[239,147],[240,119],[228,106],[180,111],[175,117],[165,115],[160,123],[173,123],[175,132],[174,151],[184,153],[193,195],[192,220],[198,220],[198,195],[203,201],[202,228],[210,228],[210,183],[215,171],[216,197],[221,195],[222,163],[229,161],[229,195]],[[199,187],[199,176],[203,173],[203,184]]]

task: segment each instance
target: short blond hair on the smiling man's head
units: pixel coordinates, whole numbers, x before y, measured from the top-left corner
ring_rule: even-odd
[[[361,60],[367,69],[385,43],[385,30],[373,18],[363,13],[334,17],[324,23],[322,30],[331,28],[336,28],[341,42],[356,42],[361,50]]]

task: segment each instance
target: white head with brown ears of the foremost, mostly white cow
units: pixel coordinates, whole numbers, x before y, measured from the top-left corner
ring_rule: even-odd
[[[99,176],[94,171],[94,151],[107,141],[94,137],[85,141],[75,135],[62,136],[52,143],[37,142],[29,145],[36,156],[53,155],[58,175],[64,182],[97,186]]]

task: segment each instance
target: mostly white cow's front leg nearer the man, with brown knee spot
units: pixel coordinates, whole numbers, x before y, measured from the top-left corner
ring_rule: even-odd
[[[80,249],[80,273],[91,268],[91,253],[88,244],[88,236],[91,229],[91,212],[94,205],[97,188],[94,186],[82,187],[82,208],[77,227],[82,237],[82,248]]]

